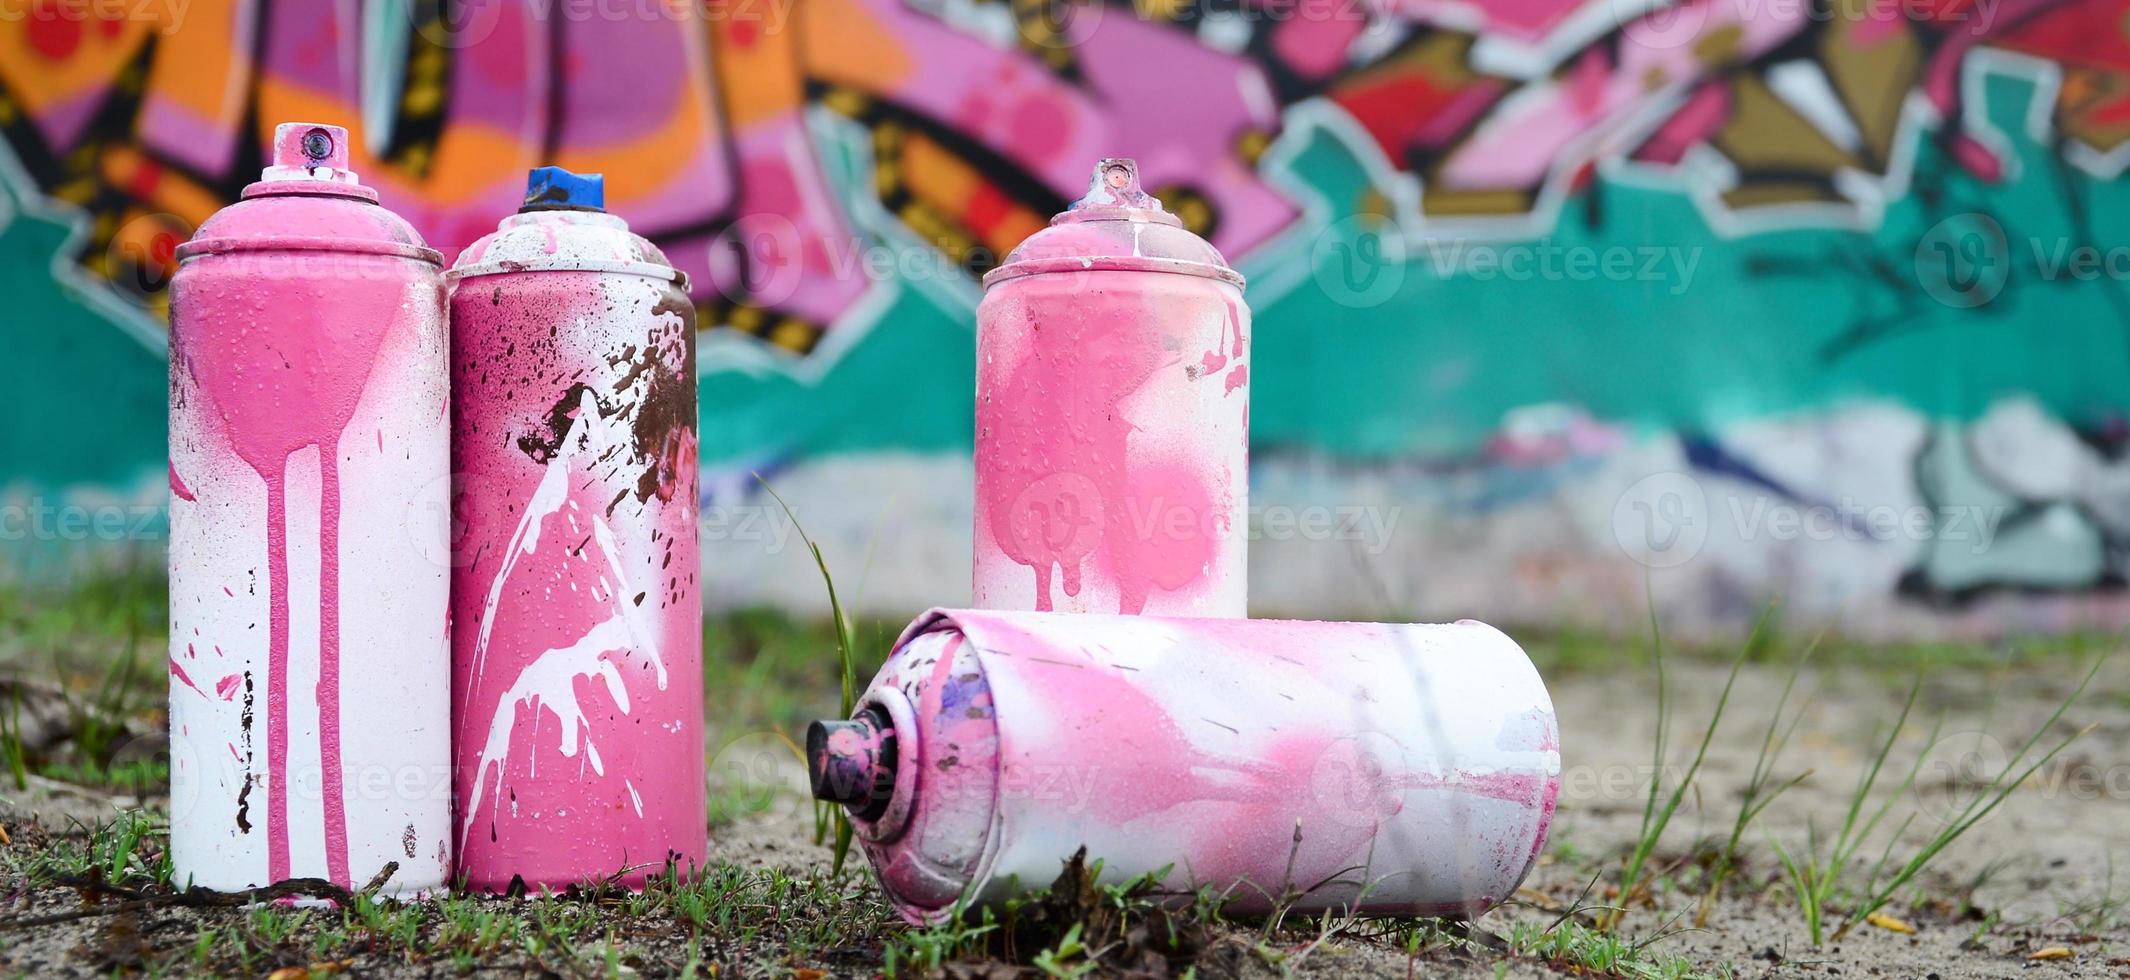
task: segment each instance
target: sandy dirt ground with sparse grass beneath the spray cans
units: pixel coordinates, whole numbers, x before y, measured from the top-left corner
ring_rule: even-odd
[[[1698,748],[1723,673],[1723,665],[1700,660],[1672,669],[1674,767]],[[1289,920],[1267,931],[1261,922],[1163,920],[1163,929],[1182,931],[1176,940],[1167,931],[1142,931],[1131,969],[1172,976],[1195,967],[1208,978],[2130,976],[2130,658],[2111,665],[2085,701],[2051,729],[2068,735],[2090,726],[2068,752],[2021,784],[1896,895],[1883,925],[1855,925],[1823,946],[1810,942],[1770,839],[1798,852],[1808,842],[1808,829],[1825,837],[1840,824],[1879,733],[1900,709],[1908,675],[1866,665],[1806,673],[1800,692],[1810,692],[1810,699],[1779,775],[1806,769],[1808,775],[1749,829],[1740,869],[1723,899],[1713,903],[1706,927],[1693,927],[1708,880],[1708,846],[1732,831],[1740,790],[1753,773],[1785,677],[1785,667],[1744,669],[1698,790],[1657,846],[1655,886],[1632,903],[1617,940],[1593,933],[1591,914],[1576,914],[1574,908],[1617,901],[1606,888],[1617,882],[1619,856],[1636,839],[1651,778],[1657,724],[1653,680],[1646,669],[1578,669],[1551,677],[1566,763],[1559,818],[1514,905],[1472,929]],[[2043,658],[2002,669],[1940,669],[1926,680],[1917,709],[1887,758],[1896,775],[1883,786],[1898,786],[1898,775],[1926,748],[1932,754],[1923,756],[1915,786],[1898,795],[1859,861],[1877,861],[1887,839],[1896,839],[1891,861],[1904,861],[1930,827],[1979,790],[1979,771],[1987,775],[1994,765],[2009,763],[2021,741],[2049,720],[2077,677],[2079,669],[2068,658]],[[317,965],[315,976],[334,969],[360,976],[462,976],[473,969],[711,976],[714,967],[720,976],[878,976],[892,965],[901,976],[1042,976],[1035,954],[1056,952],[1074,920],[1082,922],[1082,937],[1097,927],[1114,931],[1108,942],[1120,942],[1137,922],[1112,918],[1099,925],[1084,908],[1065,903],[1054,914],[1046,912],[1054,920],[1018,933],[1010,957],[982,937],[912,931],[892,918],[858,854],[850,856],[852,869],[843,878],[829,876],[826,848],[816,846],[812,812],[801,801],[716,827],[709,882],[662,897],[460,897],[396,912],[262,914],[164,903],[119,910],[130,895],[153,888],[134,882],[111,891],[85,878],[53,882],[49,867],[30,871],[43,861],[38,854],[79,846],[83,831],[77,822],[115,812],[94,793],[49,780],[0,803],[0,824],[11,831],[11,844],[0,848],[0,971],[264,976]],[[1902,831],[1898,837],[1896,829]],[[145,848],[143,861],[153,861],[153,839]],[[111,854],[102,861],[109,863]],[[2115,865],[2121,865],[2119,876],[2111,873]],[[1095,901],[1093,895],[1080,899]],[[1840,895],[1834,905],[1845,912]],[[11,925],[83,908],[96,908],[96,914],[38,927]],[[1608,942],[1615,946],[1608,948]],[[937,954],[937,967],[922,961],[927,950]],[[1617,959],[1606,959],[1615,952]],[[1074,963],[1084,959],[1052,959],[1067,971]],[[1125,967],[1108,963],[1095,974],[1110,969]]]

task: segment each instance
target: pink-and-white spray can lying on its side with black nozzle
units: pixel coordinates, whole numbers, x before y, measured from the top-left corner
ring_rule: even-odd
[[[1478,916],[1538,859],[1561,754],[1531,660],[1472,620],[933,609],[807,769],[912,922],[1080,848],[1238,912]]]

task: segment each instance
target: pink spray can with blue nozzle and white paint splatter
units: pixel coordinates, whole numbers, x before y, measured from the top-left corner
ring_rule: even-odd
[[[601,175],[532,170],[452,279],[460,873],[703,863],[694,305]]]

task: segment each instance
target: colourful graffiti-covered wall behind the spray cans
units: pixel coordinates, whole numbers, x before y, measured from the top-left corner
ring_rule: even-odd
[[[1133,156],[1250,277],[1261,614],[2130,622],[2130,0],[0,2],[17,573],[153,539],[173,247],[281,119],[447,258],[607,173],[711,605],[822,605],[752,473],[967,599],[976,277]]]

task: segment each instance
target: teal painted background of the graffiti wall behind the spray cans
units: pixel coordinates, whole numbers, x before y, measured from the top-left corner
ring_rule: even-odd
[[[1502,488],[1502,513],[1514,513],[1566,499],[1617,458],[1598,450],[1546,469],[1500,456],[1504,426],[1542,407],[1627,432],[1629,447],[1672,441],[1700,475],[1810,503],[1815,471],[1766,469],[1727,441],[1740,426],[1832,426],[1855,405],[1894,405],[1930,443],[1889,450],[1913,454],[1900,462],[1913,479],[1889,492],[2006,520],[1989,552],[1885,558],[1911,569],[1902,594],[2119,586],[2130,516],[2109,488],[2130,486],[2130,185],[2072,166],[2028,130],[2032,83],[1989,77],[1979,92],[2004,179],[1975,177],[1917,130],[1913,166],[1864,213],[1832,202],[1734,213],[1708,175],[1612,160],[1529,215],[1423,217],[1410,175],[1372,164],[1336,128],[1293,124],[1259,166],[1304,215],[1235,256],[1255,311],[1257,458],[1421,462],[1421,473],[1446,460]],[[867,211],[863,130],[814,138],[869,243],[927,247]],[[87,503],[89,520],[121,507],[136,528],[128,541],[160,539],[166,360],[153,317],[81,268],[75,217],[4,173],[0,183],[0,379],[17,405],[0,426],[0,505],[13,520],[0,524],[0,554],[34,575],[79,541],[17,530],[47,520],[38,507]],[[969,450],[976,283],[880,277],[869,290],[865,313],[831,324],[803,358],[705,334],[705,469]],[[2009,401],[2034,411],[2004,413]],[[1985,422],[2017,439],[1977,441]],[[2051,481],[2006,479],[2030,473]],[[1340,492],[1293,479],[1272,484]],[[1397,484],[1414,507],[1442,490]]]

